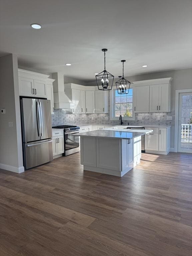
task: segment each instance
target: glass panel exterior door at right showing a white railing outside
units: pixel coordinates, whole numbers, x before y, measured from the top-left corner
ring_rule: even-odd
[[[179,94],[178,152],[192,153],[192,93]]]

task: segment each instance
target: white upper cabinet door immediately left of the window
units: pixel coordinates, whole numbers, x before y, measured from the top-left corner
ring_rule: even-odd
[[[108,91],[95,91],[95,113],[108,113]]]

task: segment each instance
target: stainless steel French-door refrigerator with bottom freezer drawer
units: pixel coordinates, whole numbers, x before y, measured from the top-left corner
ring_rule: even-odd
[[[21,98],[24,167],[53,160],[51,103],[46,99]]]

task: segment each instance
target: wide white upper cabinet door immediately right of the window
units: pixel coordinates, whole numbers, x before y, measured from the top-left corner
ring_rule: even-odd
[[[149,85],[137,86],[133,89],[135,113],[149,112]]]

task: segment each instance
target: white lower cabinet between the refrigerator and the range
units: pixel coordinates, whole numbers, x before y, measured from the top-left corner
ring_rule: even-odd
[[[52,143],[53,143],[53,156],[58,157],[65,152],[64,148],[64,135],[62,131],[56,131],[52,133]],[[56,157],[55,157],[56,158]]]

